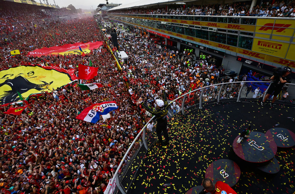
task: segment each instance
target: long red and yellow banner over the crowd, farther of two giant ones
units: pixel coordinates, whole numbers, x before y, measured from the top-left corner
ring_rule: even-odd
[[[36,49],[34,51],[31,51],[27,54],[27,56],[36,56],[40,57],[43,55],[71,55],[71,54],[81,54],[81,51],[79,50],[79,46],[83,50],[84,53],[90,53],[91,50],[95,48],[99,48],[103,44],[102,41],[96,41],[94,43],[88,42],[88,43],[75,43],[75,44],[65,44],[62,46],[53,46],[53,47],[43,47],[41,49]]]

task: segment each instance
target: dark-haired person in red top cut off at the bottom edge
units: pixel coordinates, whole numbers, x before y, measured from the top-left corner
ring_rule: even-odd
[[[211,179],[204,179],[202,181],[202,185],[204,189],[199,194],[205,194],[205,193],[211,193],[211,194],[225,194],[225,193],[231,193],[231,194],[237,194],[230,185],[226,184],[222,181],[217,181],[214,185],[213,181]]]

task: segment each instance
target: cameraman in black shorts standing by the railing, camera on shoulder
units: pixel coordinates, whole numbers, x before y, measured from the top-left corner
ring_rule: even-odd
[[[285,83],[289,80],[289,75],[291,74],[291,69],[289,67],[285,67],[282,70],[278,70],[273,73],[271,76],[271,80],[274,80],[267,90],[267,94],[265,95],[261,105],[265,105],[265,101],[268,97],[273,93],[273,100],[271,101],[271,107],[273,107],[273,103],[276,101],[276,97],[283,89]]]

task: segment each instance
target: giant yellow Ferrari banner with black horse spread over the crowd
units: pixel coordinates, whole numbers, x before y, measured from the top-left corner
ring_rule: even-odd
[[[0,104],[19,101],[33,93],[50,91],[77,79],[74,69],[58,66],[17,66],[0,71]],[[50,89],[50,90],[49,90]]]

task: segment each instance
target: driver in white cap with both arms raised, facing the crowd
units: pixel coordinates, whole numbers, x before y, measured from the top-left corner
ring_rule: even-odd
[[[138,99],[138,102],[152,115],[155,115],[157,118],[157,127],[156,127],[156,132],[158,136],[158,141],[162,146],[165,146],[169,144],[169,136],[168,136],[168,131],[167,131],[167,113],[168,113],[168,101],[167,101],[167,94],[165,92],[164,87],[160,87],[162,90],[162,98],[163,100],[156,100],[156,110],[152,110],[151,108],[148,107],[146,103],[142,101],[142,98]],[[162,139],[162,131],[164,133],[164,137],[166,141],[163,141]]]

